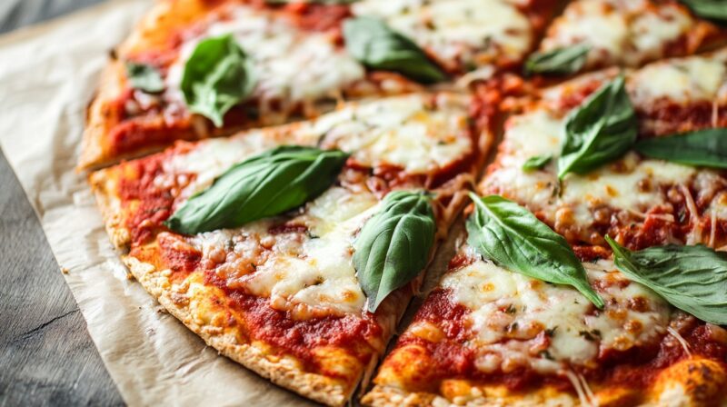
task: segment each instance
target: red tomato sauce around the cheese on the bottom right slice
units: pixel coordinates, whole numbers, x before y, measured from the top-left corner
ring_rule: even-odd
[[[455,259],[458,259],[454,262],[455,264],[466,263],[463,262],[462,257],[455,257]],[[455,268],[457,267],[455,265]],[[415,377],[410,385],[416,389],[409,390],[433,392],[433,389],[437,389],[443,380],[465,379],[474,383],[503,384],[513,391],[526,390],[544,384],[553,385],[563,391],[573,391],[568,379],[557,374],[543,375],[529,368],[507,373],[502,371],[486,373],[478,370],[474,365],[477,348],[471,341],[473,333],[465,319],[470,311],[461,304],[453,303],[450,295],[448,290],[435,289],[414,316],[415,322],[426,321],[439,327],[443,338],[430,342],[412,333],[404,333],[393,350],[393,352],[397,352],[408,345],[423,348],[423,351],[417,351],[417,348],[410,351],[412,357],[416,356],[416,352],[421,353],[417,357],[421,361],[426,361],[426,365],[423,366],[422,372],[414,372]],[[682,323],[679,331],[688,343],[692,355],[720,362],[727,360],[727,345],[713,340],[705,323],[688,317],[687,323]],[[548,342],[549,338],[543,333],[536,339],[540,338]],[[572,368],[583,374],[589,381],[598,382],[603,386],[622,385],[630,388],[645,388],[663,369],[686,357],[688,355],[682,345],[676,342],[670,334],[664,333],[661,341],[642,344],[627,351],[602,349],[596,358],[596,368],[580,366],[572,366]],[[391,360],[397,361],[396,358]],[[391,362],[389,368],[412,372],[411,368],[399,363],[402,362]]]

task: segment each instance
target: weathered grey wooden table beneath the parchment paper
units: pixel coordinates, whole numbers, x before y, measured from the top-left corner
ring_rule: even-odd
[[[0,32],[100,1],[2,0]],[[123,405],[2,153],[0,233],[0,406]]]

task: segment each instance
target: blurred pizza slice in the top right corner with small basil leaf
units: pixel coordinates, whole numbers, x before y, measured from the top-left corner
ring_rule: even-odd
[[[727,42],[713,13],[676,0],[576,0],[548,28],[528,60],[529,74],[575,74],[606,66],[641,66],[693,55]]]

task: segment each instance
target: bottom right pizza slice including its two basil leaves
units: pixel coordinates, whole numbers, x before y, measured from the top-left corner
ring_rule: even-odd
[[[517,204],[473,200],[459,251],[384,359],[365,405],[727,402],[727,331],[719,326],[727,322],[727,254],[703,246],[632,253],[645,285],[623,268],[624,257],[581,263]],[[674,265],[683,275],[670,278]],[[672,301],[700,315],[719,311],[704,322]]]

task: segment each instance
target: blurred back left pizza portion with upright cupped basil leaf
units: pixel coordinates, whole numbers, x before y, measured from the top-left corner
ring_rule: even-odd
[[[522,63],[551,3],[162,0],[112,53],[78,166],[311,118],[346,99],[487,78]]]

